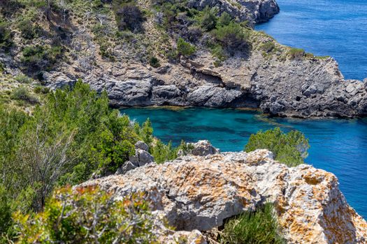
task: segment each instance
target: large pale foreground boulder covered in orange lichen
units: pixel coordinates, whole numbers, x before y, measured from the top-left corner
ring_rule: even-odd
[[[178,230],[219,227],[265,201],[275,204],[289,243],[366,243],[367,223],[345,201],[336,176],[310,165],[289,168],[269,151],[189,155],[125,175],[87,181],[117,199],[147,192],[152,208]]]

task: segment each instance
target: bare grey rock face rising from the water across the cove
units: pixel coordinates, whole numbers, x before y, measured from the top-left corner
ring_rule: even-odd
[[[367,115],[367,84],[344,80],[331,58],[280,61],[254,51],[245,61],[232,57],[221,67],[213,66],[213,58],[206,54],[189,63],[173,66],[163,75],[134,65],[119,79],[101,75],[85,81],[98,91],[106,89],[115,107],[253,107],[278,116]],[[142,78],[132,78],[134,70]]]

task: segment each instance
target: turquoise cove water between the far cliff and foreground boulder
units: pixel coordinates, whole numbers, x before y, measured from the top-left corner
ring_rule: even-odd
[[[241,151],[252,133],[279,126],[283,131],[300,130],[310,139],[305,160],[338,176],[347,201],[367,218],[367,119],[301,120],[268,118],[240,109],[122,109],[143,123],[150,118],[154,135],[178,145],[181,139],[208,139],[221,151]]]

